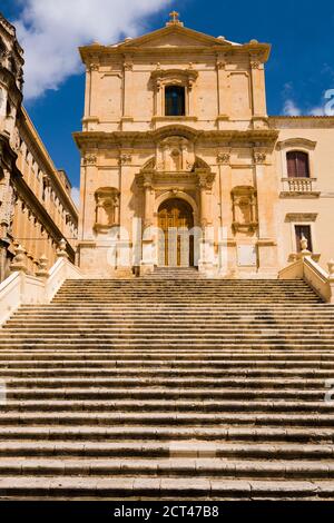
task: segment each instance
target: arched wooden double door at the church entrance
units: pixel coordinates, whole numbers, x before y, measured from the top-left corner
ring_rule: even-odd
[[[170,198],[158,209],[158,265],[194,267],[194,213],[191,206]]]

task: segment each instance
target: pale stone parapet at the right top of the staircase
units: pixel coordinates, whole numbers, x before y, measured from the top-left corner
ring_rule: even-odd
[[[304,279],[324,302],[334,304],[333,267],[334,263],[330,262],[330,272],[326,273],[310,254],[281,270],[278,279]]]

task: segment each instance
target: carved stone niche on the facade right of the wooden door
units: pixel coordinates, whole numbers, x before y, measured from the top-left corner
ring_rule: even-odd
[[[257,229],[257,203],[254,187],[239,186],[232,190],[233,230],[253,234]]]

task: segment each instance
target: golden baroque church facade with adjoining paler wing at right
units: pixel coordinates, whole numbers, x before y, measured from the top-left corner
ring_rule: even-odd
[[[276,278],[301,240],[334,255],[334,118],[269,117],[271,46],[184,27],[80,48],[87,68],[78,262]],[[305,244],[304,244],[305,246]]]

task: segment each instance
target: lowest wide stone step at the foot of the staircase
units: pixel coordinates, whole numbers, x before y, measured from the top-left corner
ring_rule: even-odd
[[[0,499],[36,500],[333,500],[333,481],[244,481],[136,475],[122,477],[4,476]]]

